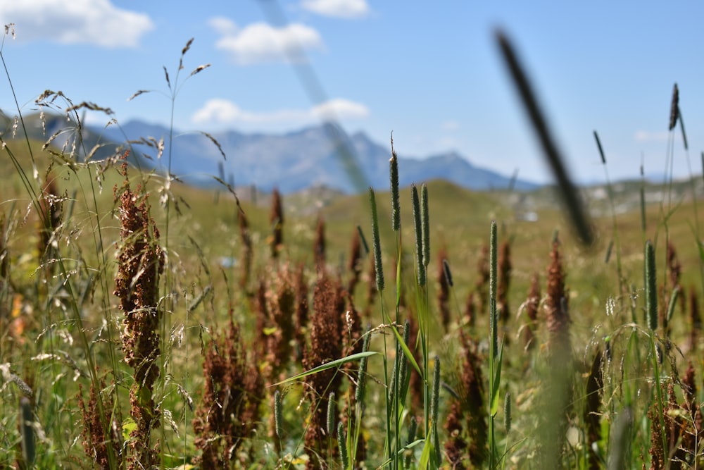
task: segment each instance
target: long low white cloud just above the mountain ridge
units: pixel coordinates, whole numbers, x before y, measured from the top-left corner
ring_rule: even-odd
[[[360,119],[369,116],[366,106],[347,99],[331,99],[310,109],[281,109],[267,113],[245,111],[227,99],[209,99],[194,113],[194,123],[296,124],[320,119]]]

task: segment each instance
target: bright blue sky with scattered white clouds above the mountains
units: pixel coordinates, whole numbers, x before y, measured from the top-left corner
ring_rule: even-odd
[[[604,179],[593,130],[612,179],[638,177],[641,159],[646,173],[663,173],[670,139],[674,173],[689,175],[679,128],[667,130],[674,82],[693,172],[701,172],[702,18],[704,4],[679,1],[0,4],[0,22],[15,23],[16,37],[6,35],[2,53],[23,112],[53,89],[109,107],[121,123],[168,124],[163,66],[173,82],[181,49],[194,37],[175,101],[179,130],[285,132],[333,113],[348,132],[363,130],[381,144],[393,131],[402,156],[454,150],[541,183],[551,176],[505,75],[495,28],[515,42],[570,172],[591,182]],[[306,92],[291,60],[313,71],[318,92]],[[127,101],[139,89],[153,92]],[[16,114],[4,78],[0,108]]]

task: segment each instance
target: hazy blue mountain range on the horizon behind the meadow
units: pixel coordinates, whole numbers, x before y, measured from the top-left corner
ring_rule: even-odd
[[[25,118],[30,137],[46,140],[47,135],[66,128],[65,116],[38,116]],[[35,133],[39,135],[34,135]],[[231,185],[256,186],[270,191],[277,187],[283,193],[296,192],[313,186],[324,186],[347,193],[389,187],[389,145],[374,142],[364,132],[348,135],[338,125],[324,123],[284,134],[246,134],[236,130],[214,132],[180,132],[174,130],[173,148],[170,149],[170,130],[131,120],[124,125],[107,128],[84,126],[85,147],[97,143],[104,145],[97,158],[111,154],[115,146],[132,142],[133,163],[142,168],[169,168],[173,175],[187,183],[215,186],[213,176]],[[61,147],[70,132],[56,137],[54,144]],[[163,154],[157,158],[157,142],[163,140]],[[135,143],[142,141],[142,144]],[[151,145],[144,144],[151,142]],[[218,142],[218,144],[215,144]],[[398,178],[401,187],[412,183],[440,179],[470,190],[484,191],[513,187],[529,191],[539,187],[526,180],[501,175],[475,166],[464,156],[448,152],[414,159],[398,156]],[[233,184],[234,183],[234,184]]]

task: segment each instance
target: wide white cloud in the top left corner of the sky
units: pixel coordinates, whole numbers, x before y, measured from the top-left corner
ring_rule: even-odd
[[[137,47],[153,30],[145,13],[123,10],[110,0],[23,0],[0,2],[0,24],[15,23],[18,40],[61,44]]]

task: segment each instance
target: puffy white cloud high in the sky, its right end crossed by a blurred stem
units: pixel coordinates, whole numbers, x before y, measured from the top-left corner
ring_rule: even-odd
[[[220,26],[223,19],[216,19]],[[220,30],[220,33],[223,37],[215,43],[215,47],[230,52],[234,60],[241,64],[300,61],[306,49],[325,49],[318,31],[300,23],[285,27],[252,23],[241,30],[227,33]]]

